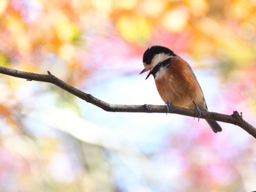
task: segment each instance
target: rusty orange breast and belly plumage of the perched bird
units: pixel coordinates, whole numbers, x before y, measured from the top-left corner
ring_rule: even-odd
[[[195,108],[193,101],[206,110],[203,92],[186,61],[172,58],[167,69],[160,69],[155,77],[157,91],[165,102],[179,107]]]

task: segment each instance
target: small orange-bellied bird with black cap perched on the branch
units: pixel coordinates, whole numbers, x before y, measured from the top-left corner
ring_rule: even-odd
[[[143,72],[149,71],[154,76],[157,91],[165,104],[195,109],[200,117],[200,110],[208,110],[203,91],[197,82],[194,72],[189,64],[173,53],[172,50],[162,46],[149,47],[143,54]],[[215,120],[206,119],[214,133],[222,131]]]

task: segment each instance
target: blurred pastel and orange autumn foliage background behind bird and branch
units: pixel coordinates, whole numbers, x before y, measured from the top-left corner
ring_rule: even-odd
[[[142,55],[170,47],[210,111],[256,125],[256,1],[1,0],[0,65],[52,74],[111,104],[163,104]],[[105,112],[0,74],[0,191],[255,191],[256,142],[238,126]]]

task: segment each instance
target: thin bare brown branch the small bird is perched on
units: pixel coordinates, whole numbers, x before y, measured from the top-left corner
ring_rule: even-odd
[[[86,102],[96,105],[97,107],[102,108],[102,110],[108,112],[161,112],[167,113],[167,107],[165,105],[151,105],[151,104],[143,104],[143,105],[127,105],[127,104],[109,104],[105,101],[97,99],[89,93],[84,93],[83,91],[78,90],[77,88],[72,87],[66,82],[60,80],[58,77],[54,76],[50,72],[48,74],[37,74],[31,72],[22,72],[16,69],[10,69],[4,66],[0,66],[0,73],[7,74],[12,77],[19,77],[26,80],[34,80],[39,82],[49,82],[52,83],[59,88],[64,89],[65,91],[73,94],[74,96],[78,96],[80,99],[83,99]],[[176,107],[174,105],[170,105],[170,113],[175,113],[179,115],[186,115],[190,117],[195,117],[195,110],[189,110],[182,107]],[[217,112],[207,112],[202,111],[200,118],[203,119],[211,119],[217,120],[225,123],[232,123],[236,126],[243,128],[252,137],[256,138],[256,128],[247,123],[241,114],[237,111],[234,111],[232,115],[220,114]]]

